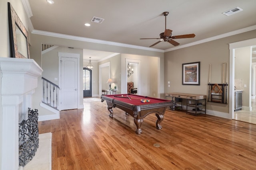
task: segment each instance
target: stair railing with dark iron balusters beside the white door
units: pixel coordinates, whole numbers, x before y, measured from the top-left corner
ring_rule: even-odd
[[[42,77],[42,103],[58,110],[59,90],[58,85]]]

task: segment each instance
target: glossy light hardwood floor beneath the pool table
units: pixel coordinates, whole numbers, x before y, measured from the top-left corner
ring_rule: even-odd
[[[106,102],[84,108],[38,123],[39,133],[52,132],[52,170],[256,168],[256,125],[168,109],[161,130],[151,114],[136,135],[133,118],[122,110],[114,108],[110,118]]]

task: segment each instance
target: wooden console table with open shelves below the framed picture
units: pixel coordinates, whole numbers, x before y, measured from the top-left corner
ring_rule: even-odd
[[[206,114],[206,95],[202,94],[188,94],[188,93],[166,93],[165,98],[172,98],[173,101],[181,102],[186,100],[186,113],[193,113],[195,115]],[[175,104],[176,106],[176,104]],[[175,107],[174,106],[174,107]]]

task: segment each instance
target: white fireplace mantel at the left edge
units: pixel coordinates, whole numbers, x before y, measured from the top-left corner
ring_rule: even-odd
[[[19,113],[27,114],[28,107],[32,108],[32,94],[37,88],[38,77],[42,75],[42,71],[33,59],[0,57],[2,107],[0,169],[19,169]]]

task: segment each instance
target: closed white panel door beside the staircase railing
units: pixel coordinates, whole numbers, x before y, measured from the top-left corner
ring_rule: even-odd
[[[61,109],[78,108],[77,59],[61,57]]]

